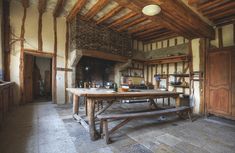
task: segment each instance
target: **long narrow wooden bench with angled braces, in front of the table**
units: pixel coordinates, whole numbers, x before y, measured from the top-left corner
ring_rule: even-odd
[[[130,120],[135,118],[147,118],[147,117],[153,117],[153,116],[162,116],[162,115],[169,115],[169,114],[177,114],[179,117],[182,117],[182,114],[184,112],[187,112],[187,115],[191,120],[191,108],[182,106],[177,108],[171,108],[166,110],[154,110],[154,111],[145,111],[145,112],[134,112],[134,113],[125,113],[125,114],[102,114],[97,115],[97,118],[100,119],[100,133],[102,136],[104,136],[105,141],[107,144],[109,144],[110,138],[109,136],[119,129],[120,127],[124,126],[126,123],[128,123]],[[113,127],[111,130],[108,129],[108,120],[109,119],[124,119],[121,123]]]

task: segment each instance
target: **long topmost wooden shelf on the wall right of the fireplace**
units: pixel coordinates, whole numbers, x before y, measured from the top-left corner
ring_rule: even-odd
[[[170,56],[165,58],[150,59],[145,62],[145,64],[165,64],[165,63],[177,63],[183,61],[190,61],[190,56],[188,55],[179,55],[179,56]]]

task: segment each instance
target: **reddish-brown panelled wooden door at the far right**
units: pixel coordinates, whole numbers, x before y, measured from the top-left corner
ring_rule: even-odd
[[[210,52],[207,58],[207,111],[231,116],[231,54]]]

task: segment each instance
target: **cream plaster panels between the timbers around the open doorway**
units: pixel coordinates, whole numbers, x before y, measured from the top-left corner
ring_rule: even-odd
[[[38,49],[38,9],[36,5],[30,5],[27,8],[27,15],[25,21],[25,48]],[[23,17],[22,4],[16,0],[11,1],[10,5],[10,25],[12,32],[16,36],[20,36],[21,24]],[[66,41],[66,19],[64,17],[57,18],[57,67],[65,67],[65,41]],[[53,14],[52,12],[45,12],[42,16],[42,39],[43,52],[53,53],[54,51],[54,28],[53,28]],[[19,87],[19,64],[20,64],[20,43],[16,42],[12,46],[10,75],[11,80],[16,82]],[[68,74],[71,72],[68,72]],[[57,71],[57,103],[65,103],[65,83],[64,71]],[[70,74],[69,74],[70,75]],[[71,81],[68,80],[69,87]],[[17,91],[17,99],[19,101],[19,88]]]

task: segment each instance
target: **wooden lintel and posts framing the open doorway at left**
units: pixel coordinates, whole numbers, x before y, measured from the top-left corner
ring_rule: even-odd
[[[56,103],[56,65],[55,62],[53,62],[55,60],[55,54],[54,53],[50,53],[50,52],[42,52],[42,51],[38,51],[38,50],[33,50],[33,49],[24,49],[24,55],[25,54],[29,54],[32,56],[36,56],[36,57],[46,57],[46,58],[50,58],[52,59],[51,62],[51,69],[52,69],[52,73],[51,73],[51,79],[52,79],[52,101],[54,103]],[[24,56],[23,55],[23,56]],[[25,73],[23,73],[23,77],[24,78]],[[22,91],[24,92],[25,89],[23,89]],[[23,99],[25,99],[25,94],[22,95]]]

